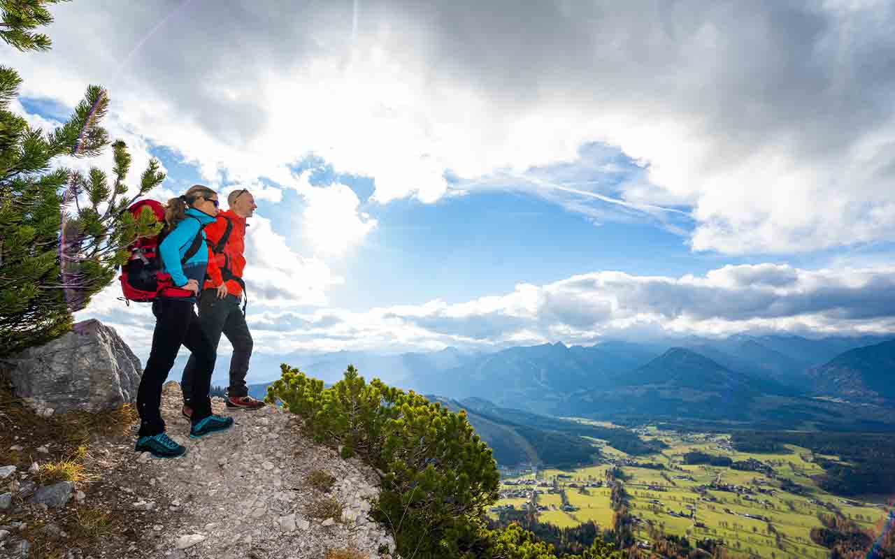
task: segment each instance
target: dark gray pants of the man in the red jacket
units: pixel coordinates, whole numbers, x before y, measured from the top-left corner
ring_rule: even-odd
[[[203,291],[199,298],[199,322],[215,351],[217,351],[217,344],[221,341],[221,334],[226,335],[226,339],[230,340],[233,345],[233,357],[230,358],[230,386],[227,388],[227,394],[230,396],[248,395],[249,389],[245,385],[245,376],[249,372],[249,359],[253,343],[249,326],[245,324],[243,311],[239,308],[239,299],[229,293],[224,299],[220,299],[217,297],[216,290]],[[188,401],[190,398],[189,387],[192,386],[192,379],[199,370],[199,360],[193,354],[186,362],[186,368],[183,368],[183,380],[180,383],[184,386],[184,401]]]

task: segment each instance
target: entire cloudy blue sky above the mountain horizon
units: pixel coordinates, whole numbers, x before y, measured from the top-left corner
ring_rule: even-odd
[[[52,13],[51,51],[4,50],[13,110],[50,130],[100,84],[131,185],[154,157],[152,198],[250,189],[256,352],[895,332],[891,2]],[[77,318],[145,360],[118,296]]]

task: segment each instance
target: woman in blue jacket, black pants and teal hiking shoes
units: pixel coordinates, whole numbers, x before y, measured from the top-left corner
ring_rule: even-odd
[[[214,222],[217,216],[217,193],[207,186],[195,185],[183,196],[168,200],[165,221],[168,233],[158,245],[163,271],[171,276],[173,287],[160,292],[152,303],[156,316],[156,329],[152,334],[152,349],[137,391],[137,411],[140,412],[140,431],[137,434],[137,452],[149,452],[158,458],[175,458],[186,453],[182,445],[165,434],[159,406],[162,385],[174,366],[177,351],[185,345],[196,358],[196,374],[193,377],[190,436],[198,438],[233,425],[232,418],[211,413],[209,389],[211,372],[215,368],[216,350],[202,332],[193,303],[205,278],[209,261],[209,248],[205,245],[202,228]],[[185,261],[196,235],[201,235],[200,250]]]

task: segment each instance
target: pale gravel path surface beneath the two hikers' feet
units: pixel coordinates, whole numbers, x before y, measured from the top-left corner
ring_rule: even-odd
[[[379,477],[369,466],[313,445],[299,434],[297,416],[271,406],[231,411],[216,398],[216,411],[231,415],[234,428],[191,439],[181,402],[180,385],[168,382],[162,415],[168,436],[186,445],[186,455],[158,460],[143,453],[131,474],[155,491],[134,496],[130,507],[166,516],[158,524],[159,556],[316,559],[354,548],[361,556],[395,557],[394,539],[369,517],[371,499],[379,495]],[[335,478],[327,492],[308,484],[315,470]],[[335,501],[341,514],[315,514],[320,499]]]

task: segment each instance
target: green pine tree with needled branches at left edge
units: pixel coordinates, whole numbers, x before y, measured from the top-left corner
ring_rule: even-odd
[[[58,0],[0,0],[0,38],[19,50],[46,50],[49,38],[31,30],[52,21]],[[97,168],[88,176],[55,167],[59,157],[95,157],[109,144],[99,126],[107,91],[90,86],[68,123],[31,128],[8,110],[19,75],[0,65],[0,358],[46,343],[72,326],[72,312],[112,282],[138,234],[155,233],[149,216],[124,211],[165,179],[158,161],[142,174],[138,196],[124,199],[131,156],[113,144],[115,182]]]

